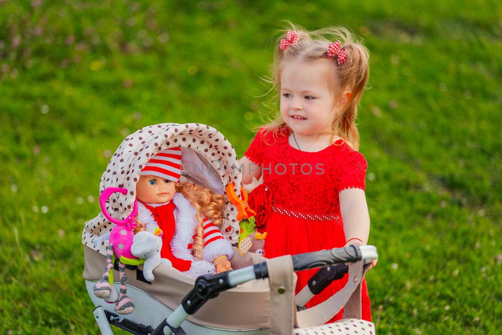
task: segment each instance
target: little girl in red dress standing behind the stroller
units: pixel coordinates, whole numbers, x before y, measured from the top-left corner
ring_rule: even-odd
[[[260,128],[239,160],[244,183],[263,174],[249,205],[266,213],[257,224],[268,232],[267,258],[366,244],[367,163],[357,152],[355,119],[368,80],[368,57],[367,49],[340,27],[306,32],[292,26],[278,41],[272,84],[280,114]],[[271,203],[264,203],[267,199]],[[269,210],[260,210],[264,206]],[[298,273],[297,292],[315,272]],[[346,276],[334,281],[307,306],[326,300],[346,281]],[[362,318],[370,321],[366,282],[362,285]]]

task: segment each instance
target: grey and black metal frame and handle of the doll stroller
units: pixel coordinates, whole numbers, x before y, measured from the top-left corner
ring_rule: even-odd
[[[291,257],[293,260],[294,271],[302,271],[319,267],[327,268],[335,266],[337,264],[346,264],[349,262],[357,262],[360,261],[361,259],[364,259],[366,262],[369,262],[372,259],[378,258],[378,254],[376,253],[376,248],[373,246],[359,246],[359,247],[348,246],[345,248],[334,248],[330,250],[322,250],[317,252],[298,254]],[[136,323],[132,320],[129,320],[127,318],[127,316],[129,315],[126,315],[126,317],[117,315],[114,312],[103,308],[102,305],[97,306],[93,310],[93,315],[103,335],[113,334],[110,324],[134,334],[169,335],[174,333],[176,335],[183,335],[186,333],[197,333],[200,332],[202,328],[199,328],[199,326],[189,321],[186,321],[186,318],[189,315],[197,312],[197,310],[206,301],[217,297],[220,292],[227,290],[229,288],[233,288],[236,285],[245,283],[250,280],[265,279],[268,278],[268,276],[269,276],[269,271],[267,268],[267,264],[265,262],[255,264],[252,266],[247,266],[237,270],[223,272],[217,275],[200,276],[197,278],[192,290],[183,298],[181,304],[174,311],[171,311],[169,308],[162,305],[162,303],[159,300],[155,299],[155,297],[148,294],[147,292],[141,291],[135,288],[134,286],[128,285],[129,286],[128,289],[131,289],[131,292],[133,292],[133,294],[135,290],[141,291],[142,293],[146,294],[143,295],[143,298],[145,297],[153,298],[159,304],[158,308],[164,307],[166,309],[166,313],[170,312],[170,315],[164,320],[162,320],[162,322],[160,322],[155,329],[153,328],[152,325],[145,325],[142,323]],[[318,276],[318,273],[316,273],[314,277],[315,276]],[[86,281],[86,282],[87,282],[87,289],[91,290],[93,281]],[[304,290],[307,287],[308,286],[306,286]],[[322,290],[318,290],[316,294],[320,293],[320,291]],[[311,294],[310,297],[312,297],[313,295],[314,294]],[[308,294],[303,293],[303,296],[308,297]],[[140,295],[138,295],[138,297],[141,299]],[[307,301],[297,300],[297,304],[302,306],[305,305],[306,302]],[[152,302],[150,301],[149,303]],[[188,332],[185,332],[185,329]],[[229,330],[229,329],[204,326],[203,329],[204,333],[207,334],[222,334],[226,333],[227,331],[241,331],[243,333],[249,333],[249,334],[268,333],[268,328]]]

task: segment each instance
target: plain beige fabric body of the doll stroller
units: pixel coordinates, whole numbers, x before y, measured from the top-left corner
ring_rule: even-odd
[[[233,269],[266,260],[255,253],[242,256],[237,248],[233,248],[234,256],[231,259]],[[103,264],[106,262],[105,256],[84,247],[84,260],[84,279],[101,279]],[[139,265],[138,269],[143,270],[143,265]],[[114,277],[118,278],[118,271],[113,270],[113,272]],[[126,268],[128,285],[145,291],[172,310],[181,304],[183,297],[195,284],[195,278],[163,264],[154,270],[154,275],[155,280],[149,284],[137,280],[136,270]],[[294,275],[293,287],[294,285],[296,285],[296,275]],[[221,292],[217,298],[210,299],[195,314],[190,315],[188,320],[198,325],[221,329],[257,329],[270,326],[271,312],[268,279],[254,280]]]

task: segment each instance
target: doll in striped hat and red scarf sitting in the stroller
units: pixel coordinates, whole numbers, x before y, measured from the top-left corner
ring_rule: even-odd
[[[192,277],[231,270],[231,244],[219,227],[225,198],[192,182],[180,183],[181,148],[163,150],[141,170],[137,220],[163,231],[160,255]]]

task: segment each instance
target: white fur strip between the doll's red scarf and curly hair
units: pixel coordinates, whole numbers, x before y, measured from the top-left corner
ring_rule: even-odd
[[[187,246],[195,233],[195,227],[197,227],[199,223],[195,219],[197,211],[182,193],[176,192],[173,197],[173,202],[179,210],[176,217],[174,237],[171,240],[173,255],[177,258],[193,261],[195,258]]]

